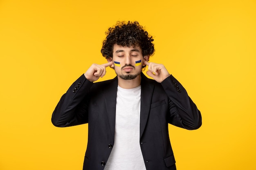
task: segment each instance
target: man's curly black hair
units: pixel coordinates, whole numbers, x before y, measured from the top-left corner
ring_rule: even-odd
[[[154,55],[155,49],[154,40],[143,26],[139,25],[139,22],[118,21],[113,27],[110,27],[106,32],[106,39],[103,41],[101,53],[103,57],[113,57],[114,44],[121,46],[139,46],[142,51],[142,55]]]

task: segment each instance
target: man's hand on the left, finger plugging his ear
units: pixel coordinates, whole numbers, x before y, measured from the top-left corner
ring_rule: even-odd
[[[108,62],[106,64],[92,64],[90,68],[84,73],[85,78],[90,82],[95,82],[99,79],[99,77],[103,77],[106,75],[106,67],[111,66],[113,62]]]

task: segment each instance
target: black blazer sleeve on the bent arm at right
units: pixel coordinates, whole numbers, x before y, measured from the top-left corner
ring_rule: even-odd
[[[188,130],[202,125],[202,116],[185,88],[170,75],[161,83],[169,99],[169,123]]]

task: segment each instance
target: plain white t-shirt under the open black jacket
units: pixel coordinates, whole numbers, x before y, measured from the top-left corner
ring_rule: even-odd
[[[117,87],[115,144],[104,170],[146,170],[139,144],[141,86]]]

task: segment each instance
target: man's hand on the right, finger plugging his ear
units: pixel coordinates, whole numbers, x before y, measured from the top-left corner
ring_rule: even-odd
[[[148,71],[146,72],[147,75],[149,75],[159,83],[161,83],[162,81],[164,81],[164,79],[170,76],[163,64],[147,62],[146,60],[144,60],[143,63],[148,66]]]

